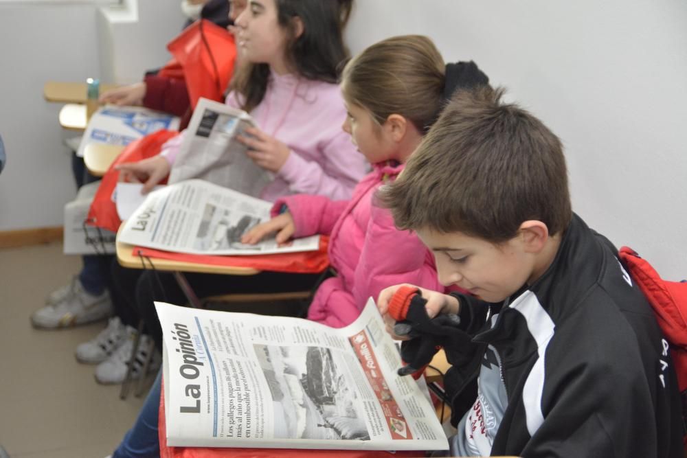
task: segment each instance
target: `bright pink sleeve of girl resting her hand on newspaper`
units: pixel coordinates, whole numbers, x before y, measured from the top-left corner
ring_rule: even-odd
[[[297,194],[278,198],[272,206],[272,216],[280,214],[282,206],[293,217],[294,238],[313,236],[316,233],[328,236],[332,233],[339,216],[343,214],[348,201],[332,201],[324,196]]]

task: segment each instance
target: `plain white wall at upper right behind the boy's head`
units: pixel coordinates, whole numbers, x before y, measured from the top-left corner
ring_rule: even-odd
[[[574,210],[683,279],[686,24],[683,0],[359,0],[348,43],[425,34],[475,60],[563,140]]]

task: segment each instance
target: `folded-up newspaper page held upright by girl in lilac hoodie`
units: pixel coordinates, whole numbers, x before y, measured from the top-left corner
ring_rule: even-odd
[[[183,135],[169,183],[203,179],[258,197],[273,175],[246,155],[247,146],[236,140],[255,126],[245,111],[201,98]]]

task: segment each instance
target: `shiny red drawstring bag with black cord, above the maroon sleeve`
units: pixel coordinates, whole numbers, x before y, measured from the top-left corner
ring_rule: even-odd
[[[232,34],[201,19],[170,41],[167,49],[174,59],[158,75],[179,78],[181,73],[192,108],[201,97],[217,102],[224,100],[236,62],[236,43]]]

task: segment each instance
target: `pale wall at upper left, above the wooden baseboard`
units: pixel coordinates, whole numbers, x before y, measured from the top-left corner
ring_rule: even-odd
[[[0,135],[8,154],[0,176],[0,231],[60,226],[63,207],[76,194],[58,124],[60,104],[43,100],[43,83],[111,82],[102,78],[107,66],[116,69],[115,82],[131,82],[169,58],[164,44],[184,21],[179,2],[142,3],[139,21],[111,26],[115,38],[126,34],[128,41],[111,43],[118,54],[104,56],[94,5],[0,1]]]

